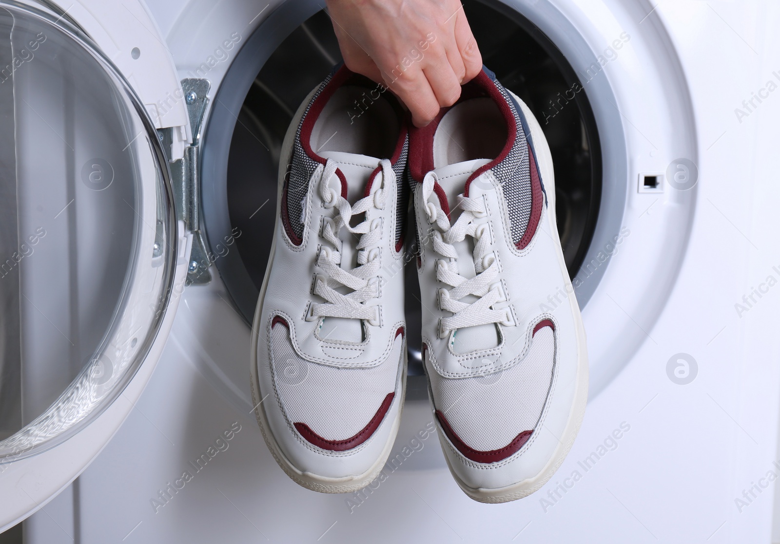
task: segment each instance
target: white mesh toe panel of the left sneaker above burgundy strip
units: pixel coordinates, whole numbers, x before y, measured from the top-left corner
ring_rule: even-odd
[[[388,359],[371,369],[338,369],[300,359],[282,326],[271,329],[271,373],[290,422],[306,423],[327,440],[356,435],[374,417],[402,361],[396,338]]]

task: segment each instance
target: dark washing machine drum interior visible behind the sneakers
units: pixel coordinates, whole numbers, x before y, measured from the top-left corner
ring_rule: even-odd
[[[471,2],[464,9],[484,64],[541,121],[555,166],[558,231],[574,277],[590,246],[601,201],[601,147],[587,96],[578,93],[566,108],[556,107],[579,79],[562,53],[519,12],[499,3]],[[306,11],[299,6],[289,12],[288,18]],[[300,102],[342,60],[325,12],[301,21],[276,44],[269,43],[274,38],[264,30],[261,26],[250,37],[225,75],[215,101],[224,108],[212,111],[204,144],[206,231],[212,249],[224,246],[224,240],[236,240],[237,252],[214,250],[215,264],[247,323],[254,315],[271,249],[282,140]],[[295,77],[289,76],[290,66],[296,67]],[[236,119],[231,112],[237,111]],[[410,243],[406,251],[413,252]],[[421,313],[417,273],[413,259],[407,262],[413,375],[422,373]]]

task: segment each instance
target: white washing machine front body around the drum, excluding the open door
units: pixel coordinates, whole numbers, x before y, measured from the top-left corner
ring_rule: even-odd
[[[257,65],[319,9],[148,4],[179,79],[211,83],[204,158],[228,152],[215,119],[239,122]],[[431,433],[419,379],[391,461],[369,488],[323,495],[287,479],[254,422],[250,328],[217,266],[237,249],[224,225],[207,224],[211,281],[183,291],[136,409],[76,484],[27,521],[28,542],[770,542],[780,475],[780,8],[499,8],[521,13],[562,52],[584,82],[601,142],[598,221],[574,281],[590,404],[551,482],[513,503],[468,499]],[[224,184],[211,186],[203,205],[224,203]]]

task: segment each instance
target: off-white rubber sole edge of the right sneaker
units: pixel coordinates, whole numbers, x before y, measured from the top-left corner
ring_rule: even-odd
[[[511,91],[510,91],[511,93]],[[551,232],[557,232],[558,227],[555,224],[555,173],[552,167],[552,155],[550,153],[550,147],[548,146],[547,139],[544,137],[541,125],[531,113],[528,106],[512,94],[520,108],[523,110],[523,115],[526,117],[529,129],[531,132],[531,139],[534,141],[534,149],[536,150],[537,161],[539,162],[539,169],[541,171],[542,182],[544,182],[544,190],[547,193],[548,199],[548,224]],[[576,372],[576,389],[574,392],[574,402],[572,404],[571,411],[569,412],[569,419],[566,422],[563,435],[558,437],[558,447],[550,457],[549,461],[544,468],[532,478],[524,479],[522,482],[517,482],[511,486],[505,486],[501,488],[473,488],[467,486],[462,479],[452,470],[447,453],[444,450],[445,440],[447,437],[439,430],[439,440],[441,442],[441,448],[445,451],[445,460],[449,466],[452,476],[458,483],[460,489],[466,495],[470,496],[473,500],[477,500],[480,503],[507,503],[512,500],[522,499],[525,496],[529,496],[538,489],[541,489],[552,475],[558,471],[558,468],[562,465],[564,459],[569,454],[569,450],[572,449],[574,440],[577,433],[580,432],[580,426],[582,425],[583,418],[585,417],[585,407],[587,406],[587,390],[588,390],[588,361],[587,361],[587,340],[585,337],[585,327],[583,327],[582,316],[580,314],[580,306],[577,304],[576,297],[574,295],[574,288],[569,280],[569,272],[566,270],[566,261],[563,258],[563,249],[561,247],[561,241],[558,236],[553,237],[555,239],[555,247],[558,254],[558,264],[564,273],[566,278],[566,290],[569,293],[569,305],[571,306],[574,316],[574,323],[577,335],[577,372]],[[438,426],[437,426],[438,429]]]

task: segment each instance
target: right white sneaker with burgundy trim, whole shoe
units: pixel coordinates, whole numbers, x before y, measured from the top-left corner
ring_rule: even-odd
[[[474,500],[516,500],[561,465],[587,402],[550,150],[527,106],[483,70],[456,105],[411,129],[409,168],[441,446]]]

